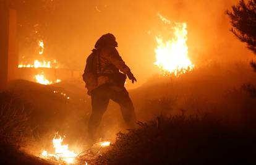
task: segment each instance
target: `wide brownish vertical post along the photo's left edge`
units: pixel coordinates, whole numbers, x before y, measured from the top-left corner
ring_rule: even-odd
[[[0,1],[0,90],[17,77],[16,22],[16,11],[9,8],[7,1]]]

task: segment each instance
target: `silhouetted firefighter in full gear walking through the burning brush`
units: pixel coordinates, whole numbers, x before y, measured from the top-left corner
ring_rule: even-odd
[[[101,118],[108,108],[109,99],[119,104],[122,117],[128,127],[133,128],[136,122],[134,105],[124,83],[126,76],[132,83],[137,80],[122,60],[116,47],[117,42],[113,34],[101,36],[96,41],[92,54],[87,58],[83,74],[85,87],[92,98],[92,114],[88,122],[88,133],[94,140]]]

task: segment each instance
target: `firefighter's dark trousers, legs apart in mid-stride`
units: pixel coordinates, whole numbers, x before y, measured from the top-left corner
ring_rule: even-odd
[[[136,117],[134,104],[129,97],[129,93],[124,87],[117,87],[110,84],[101,85],[92,91],[92,114],[88,123],[89,135],[95,137],[96,130],[100,125],[101,118],[108,108],[109,99],[118,103],[122,117],[129,128],[135,127]]]

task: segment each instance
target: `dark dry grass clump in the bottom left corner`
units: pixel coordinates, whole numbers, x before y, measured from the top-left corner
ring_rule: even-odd
[[[49,164],[19,151],[31,138],[30,111],[11,92],[0,93],[0,164]]]

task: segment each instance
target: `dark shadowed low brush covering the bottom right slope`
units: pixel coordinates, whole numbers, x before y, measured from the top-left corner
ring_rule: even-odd
[[[235,128],[210,116],[169,118],[139,123],[118,133],[98,164],[248,164],[254,156],[252,127]]]

